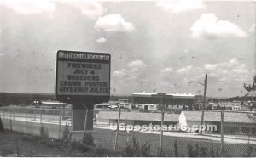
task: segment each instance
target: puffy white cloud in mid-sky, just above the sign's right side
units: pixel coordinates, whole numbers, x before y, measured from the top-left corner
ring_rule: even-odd
[[[126,22],[120,14],[108,14],[99,17],[95,28],[97,31],[110,32],[131,32],[135,30],[135,26],[131,22]]]

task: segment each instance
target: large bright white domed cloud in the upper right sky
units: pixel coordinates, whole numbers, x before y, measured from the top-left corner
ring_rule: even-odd
[[[191,27],[191,37],[216,39],[224,37],[247,37],[237,25],[226,20],[218,20],[215,14],[202,14]]]

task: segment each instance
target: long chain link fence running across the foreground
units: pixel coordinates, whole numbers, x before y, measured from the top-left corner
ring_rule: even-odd
[[[63,138],[65,127],[73,140],[73,111],[2,107],[4,129]],[[89,110],[84,111],[84,114]],[[256,154],[255,112],[227,110],[91,110],[96,146],[123,150],[137,145],[157,156],[251,156]]]

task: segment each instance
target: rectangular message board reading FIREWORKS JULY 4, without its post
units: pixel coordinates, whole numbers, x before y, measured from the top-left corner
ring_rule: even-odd
[[[110,54],[59,50],[55,98],[110,95]]]

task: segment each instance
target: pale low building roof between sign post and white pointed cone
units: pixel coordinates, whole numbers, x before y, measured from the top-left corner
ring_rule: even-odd
[[[118,111],[99,111],[97,119],[117,120],[118,116]],[[164,118],[164,121],[178,122],[179,114],[165,114]],[[161,121],[161,114],[150,112],[121,112],[120,120]]]

